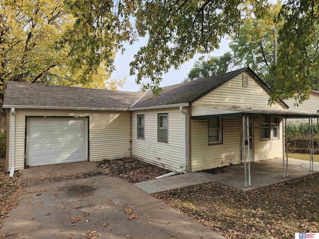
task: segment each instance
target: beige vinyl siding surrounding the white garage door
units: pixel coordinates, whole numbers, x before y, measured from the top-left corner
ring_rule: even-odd
[[[15,109],[15,169],[24,167],[25,116],[89,117],[89,160],[118,159],[130,152],[130,112]],[[11,116],[10,116],[11,120]],[[11,121],[10,121],[11,122]],[[11,123],[10,123],[11,130]],[[10,137],[10,134],[9,134]],[[8,163],[11,168],[11,139]]]

